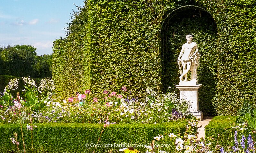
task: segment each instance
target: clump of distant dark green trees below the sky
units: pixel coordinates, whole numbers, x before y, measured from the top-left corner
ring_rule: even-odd
[[[52,77],[52,55],[38,56],[31,45],[0,47],[0,73],[17,77]]]

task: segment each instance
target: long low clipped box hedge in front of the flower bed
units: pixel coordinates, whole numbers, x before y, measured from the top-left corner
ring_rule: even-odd
[[[69,124],[69,123],[52,123],[36,124],[38,127],[33,128],[33,147],[35,152],[72,152],[72,153],[91,153],[94,150],[93,144],[102,131],[102,124]],[[153,137],[162,134],[167,136],[169,133],[185,132],[187,122],[185,120],[168,122],[162,124],[111,124],[105,128],[98,144],[112,144],[112,147],[98,148],[96,152],[108,152],[110,148],[114,152],[124,148],[117,145],[141,144],[146,145],[153,140]],[[27,131],[23,125],[26,150],[31,150],[31,131]],[[16,146],[10,141],[14,137],[14,132],[18,133],[20,149],[23,149],[20,125],[0,124],[1,145],[0,152],[15,152]],[[168,140],[165,140],[170,144]],[[89,144],[87,146],[86,144]],[[157,144],[157,142],[156,142]],[[127,146],[125,146],[127,147]],[[129,146],[128,146],[129,147]],[[128,148],[127,147],[127,148]],[[140,151],[146,151],[145,147],[136,147]]]

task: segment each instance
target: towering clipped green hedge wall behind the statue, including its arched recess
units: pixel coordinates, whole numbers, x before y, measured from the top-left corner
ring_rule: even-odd
[[[168,16],[185,5],[210,14],[186,7]],[[178,93],[176,59],[192,34],[202,54],[199,108],[235,115],[245,100],[256,104],[255,17],[254,0],[88,0],[74,13],[68,37],[54,42],[56,91],[60,98],[85,89],[97,96],[125,85],[139,97],[147,87]]]

